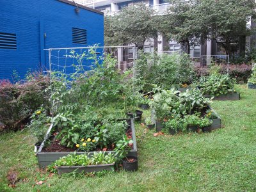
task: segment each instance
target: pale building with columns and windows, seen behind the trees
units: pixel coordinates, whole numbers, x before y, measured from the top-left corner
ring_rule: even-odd
[[[100,12],[104,12],[104,14],[109,15],[122,11],[122,8],[125,6],[131,6],[132,4],[139,2],[143,2],[152,7],[152,9],[156,10],[158,14],[164,14],[166,10],[171,6],[170,3],[166,3],[164,0],[76,0],[76,2],[84,4],[90,8],[95,8]],[[251,38],[246,38],[246,44],[250,45],[250,43]],[[218,56],[218,58],[221,58],[221,60],[226,60],[227,58],[224,56],[226,54],[225,49],[223,49],[222,46],[223,45],[221,42],[216,40],[207,40],[202,45],[191,46],[190,57],[193,61],[195,61],[195,64],[197,65],[201,65],[202,58],[204,58],[204,56]],[[171,54],[172,52],[180,52],[180,44],[172,40],[166,40],[163,35],[159,34],[157,40],[150,39],[150,41],[145,42],[143,49],[145,52],[152,52],[157,50],[159,53],[168,52]],[[232,54],[239,54],[239,52],[245,51],[245,49],[245,43],[244,46],[240,46],[239,49],[237,49],[237,46],[234,45]],[[204,65],[209,65],[210,62],[211,60],[205,59]]]

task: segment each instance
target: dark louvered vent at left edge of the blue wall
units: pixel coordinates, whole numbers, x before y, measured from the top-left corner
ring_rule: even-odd
[[[0,49],[17,49],[16,34],[0,32]]]

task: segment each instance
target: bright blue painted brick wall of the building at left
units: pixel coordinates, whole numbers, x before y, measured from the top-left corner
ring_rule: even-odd
[[[43,49],[103,46],[103,15],[74,8],[58,0],[1,0],[0,33],[15,33],[17,49],[0,49],[0,79],[12,79],[13,70],[24,77],[29,68],[49,68]],[[87,30],[86,45],[72,43],[72,28]]]

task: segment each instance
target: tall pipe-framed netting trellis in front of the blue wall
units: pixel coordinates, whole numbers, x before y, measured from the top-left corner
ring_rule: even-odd
[[[67,76],[71,74],[68,78],[70,79],[70,82],[72,82],[74,74],[93,74],[96,68],[99,67],[99,65],[102,65],[104,60],[108,57],[116,61],[116,70],[120,73],[130,69],[133,70],[133,77],[135,76],[135,46],[67,47],[47,49],[47,51],[49,54],[49,70],[47,72],[49,73],[51,84],[54,80],[52,79],[52,74],[54,72],[61,72]],[[76,78],[74,81],[76,81]],[[131,86],[134,93],[134,83],[131,84]],[[52,100],[51,104],[51,109],[53,111]]]

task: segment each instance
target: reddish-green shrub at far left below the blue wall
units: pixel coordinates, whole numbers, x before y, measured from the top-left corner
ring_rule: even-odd
[[[17,130],[28,122],[29,116],[40,106],[49,106],[45,88],[49,78],[41,74],[33,74],[24,82],[10,83],[0,81],[0,122],[5,129]]]

